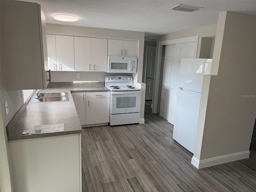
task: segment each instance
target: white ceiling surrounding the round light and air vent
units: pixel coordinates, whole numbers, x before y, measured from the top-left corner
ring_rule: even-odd
[[[23,0],[41,4],[46,22],[145,32],[152,37],[216,24],[218,13],[256,15],[256,0]],[[195,12],[168,10],[177,4],[203,7]],[[77,22],[61,22],[54,14],[72,14]]]

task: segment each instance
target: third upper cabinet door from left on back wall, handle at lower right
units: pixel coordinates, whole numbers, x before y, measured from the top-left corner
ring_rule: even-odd
[[[91,38],[74,37],[76,71],[90,71],[92,65]]]

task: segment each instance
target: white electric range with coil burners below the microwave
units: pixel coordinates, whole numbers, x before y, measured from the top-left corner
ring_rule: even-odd
[[[140,122],[141,89],[133,85],[132,76],[107,76],[110,88],[110,125]]]

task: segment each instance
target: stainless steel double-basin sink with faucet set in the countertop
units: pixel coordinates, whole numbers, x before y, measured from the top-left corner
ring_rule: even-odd
[[[58,93],[42,93],[39,98],[34,98],[32,103],[38,102],[60,102],[60,101],[69,101],[67,92],[58,92]]]

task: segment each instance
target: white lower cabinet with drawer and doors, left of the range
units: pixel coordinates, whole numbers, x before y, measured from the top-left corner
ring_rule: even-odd
[[[107,125],[110,120],[110,92],[73,92],[82,127]]]

